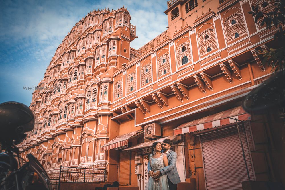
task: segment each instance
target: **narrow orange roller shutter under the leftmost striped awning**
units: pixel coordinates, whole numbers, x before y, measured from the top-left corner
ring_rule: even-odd
[[[119,185],[131,184],[131,152],[120,151]]]

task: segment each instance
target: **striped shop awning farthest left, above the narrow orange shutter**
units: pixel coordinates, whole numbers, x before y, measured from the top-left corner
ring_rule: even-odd
[[[101,151],[106,151],[120,146],[125,146],[129,143],[130,138],[132,138],[133,136],[137,136],[138,134],[141,133],[143,133],[143,129],[117,136],[113,140],[101,146]]]

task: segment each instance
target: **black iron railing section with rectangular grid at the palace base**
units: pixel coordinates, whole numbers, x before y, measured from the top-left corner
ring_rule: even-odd
[[[106,169],[60,166],[59,183],[103,183]]]

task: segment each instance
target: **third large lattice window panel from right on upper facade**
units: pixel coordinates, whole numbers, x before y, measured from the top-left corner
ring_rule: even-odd
[[[205,36],[208,35],[209,38],[205,39]],[[199,45],[200,45],[200,52],[201,56],[205,55],[207,52],[207,48],[210,47],[211,50],[214,50],[217,48],[217,42],[215,37],[215,32],[213,29],[209,29],[205,32],[203,32],[199,36]]]

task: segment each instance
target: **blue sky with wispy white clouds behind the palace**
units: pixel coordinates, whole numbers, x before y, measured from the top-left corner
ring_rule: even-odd
[[[93,9],[125,6],[139,37],[131,47],[140,48],[166,30],[167,1],[39,1],[0,0],[0,102],[30,105],[32,90],[43,79],[56,48],[71,28]]]

